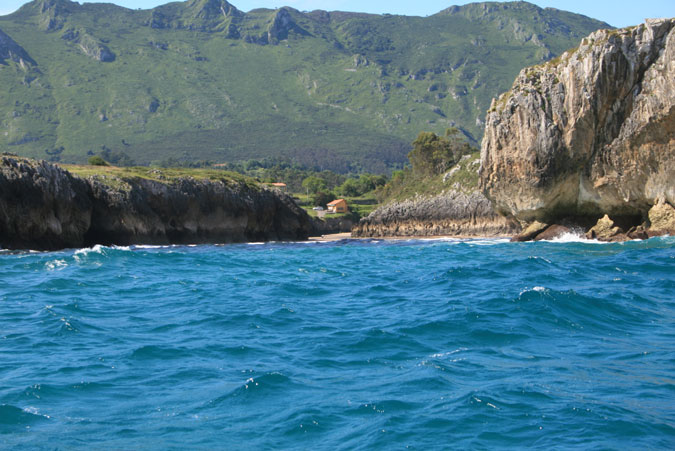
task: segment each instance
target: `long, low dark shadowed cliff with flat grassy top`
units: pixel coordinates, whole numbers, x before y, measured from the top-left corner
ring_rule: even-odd
[[[226,179],[79,178],[44,161],[0,159],[0,247],[306,239],[309,216],[280,192]]]

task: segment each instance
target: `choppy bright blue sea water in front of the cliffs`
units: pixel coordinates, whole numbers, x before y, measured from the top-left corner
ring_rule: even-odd
[[[675,448],[675,238],[0,255],[0,445]]]

